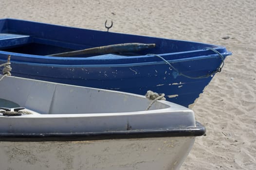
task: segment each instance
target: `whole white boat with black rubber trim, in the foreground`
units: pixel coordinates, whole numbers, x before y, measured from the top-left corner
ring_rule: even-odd
[[[0,75],[2,77],[2,75]],[[145,96],[5,76],[3,170],[177,170],[205,128],[194,112]]]

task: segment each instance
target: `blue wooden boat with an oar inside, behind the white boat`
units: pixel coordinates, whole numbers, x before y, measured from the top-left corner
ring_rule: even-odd
[[[142,95],[151,90],[185,107],[228,55],[212,44],[0,19],[0,64],[11,56],[14,76]]]

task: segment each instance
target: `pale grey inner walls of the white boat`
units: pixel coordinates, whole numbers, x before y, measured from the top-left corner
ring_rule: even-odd
[[[140,95],[9,76],[0,86],[0,107],[24,107],[40,114],[137,112],[151,102]],[[169,107],[155,102],[149,110]]]

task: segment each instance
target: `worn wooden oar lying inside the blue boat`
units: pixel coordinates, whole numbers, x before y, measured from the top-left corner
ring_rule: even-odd
[[[155,47],[156,44],[143,44],[143,43],[125,43],[125,44],[114,44],[102,47],[94,47],[90,49],[62,52],[57,54],[51,54],[48,56],[58,56],[58,57],[69,57],[82,54],[109,54],[118,52],[134,52],[146,50]]]

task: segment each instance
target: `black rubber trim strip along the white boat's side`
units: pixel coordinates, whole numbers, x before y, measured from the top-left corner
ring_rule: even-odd
[[[202,136],[205,127],[196,122],[196,127],[179,129],[146,129],[86,133],[46,133],[46,134],[13,134],[0,133],[0,141],[75,141],[75,140],[104,140],[125,138]]]

